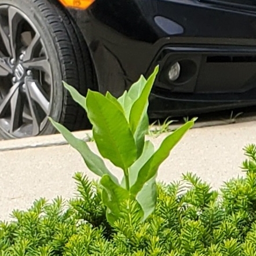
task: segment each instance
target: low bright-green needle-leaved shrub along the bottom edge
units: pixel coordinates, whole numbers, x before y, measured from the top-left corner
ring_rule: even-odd
[[[256,146],[246,147],[244,177],[225,182],[219,192],[188,173],[158,184],[156,209],[145,222],[134,202],[123,218],[108,224],[101,186],[76,173],[76,196],[27,211],[13,211],[0,224],[1,256],[255,256]]]

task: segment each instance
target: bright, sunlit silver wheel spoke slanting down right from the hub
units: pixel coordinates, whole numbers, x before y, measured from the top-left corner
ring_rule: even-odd
[[[47,100],[45,92],[43,92],[42,86],[38,81],[27,80],[27,89],[30,92],[30,97],[42,108],[46,115],[49,115],[50,102]]]

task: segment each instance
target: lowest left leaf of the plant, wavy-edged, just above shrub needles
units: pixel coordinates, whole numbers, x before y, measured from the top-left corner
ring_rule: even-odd
[[[130,195],[129,191],[127,191],[125,188],[115,184],[109,175],[104,175],[101,178],[100,183],[103,186],[103,203],[108,208],[107,218],[110,224],[114,225],[115,221],[122,218],[122,209],[120,209],[122,203],[129,199],[135,200],[135,198],[134,196]],[[140,207],[139,204],[138,207]]]

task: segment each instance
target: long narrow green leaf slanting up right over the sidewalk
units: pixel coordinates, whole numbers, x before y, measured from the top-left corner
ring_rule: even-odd
[[[137,180],[130,189],[133,195],[137,195],[137,193],[143,188],[144,184],[157,174],[160,164],[170,155],[171,149],[173,149],[178,141],[181,140],[186,131],[194,125],[195,120],[196,119],[193,119],[185,123],[185,125],[175,130],[163,140],[158,150],[139,171]]]

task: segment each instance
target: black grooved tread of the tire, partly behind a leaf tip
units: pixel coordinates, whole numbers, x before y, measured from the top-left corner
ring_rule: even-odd
[[[86,95],[93,84],[93,68],[90,54],[81,31],[71,15],[54,0],[32,0],[45,18],[54,35],[63,81]],[[89,127],[86,112],[64,90],[63,110],[59,120],[69,130]]]

